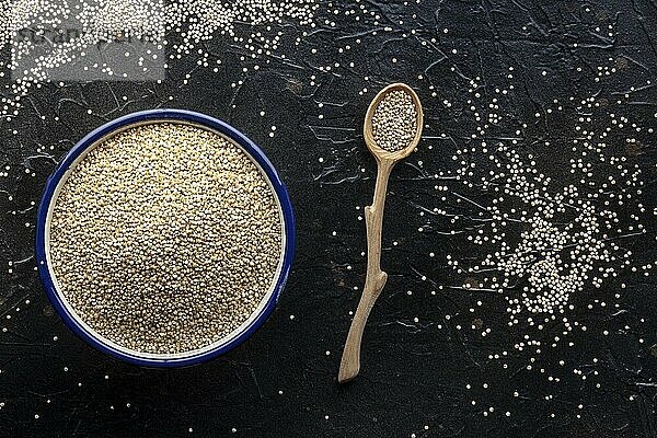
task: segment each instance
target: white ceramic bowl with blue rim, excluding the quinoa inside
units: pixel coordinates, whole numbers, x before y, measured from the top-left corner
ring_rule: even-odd
[[[57,281],[50,268],[49,258],[49,227],[50,215],[57,196],[70,171],[80,162],[85,154],[102,143],[107,137],[115,135],[135,125],[149,123],[182,123],[192,124],[211,131],[218,132],[240,146],[253,162],[260,168],[262,174],[268,181],[272,189],[276,194],[279,214],[283,223],[283,251],[278,264],[278,270],[273,281],[273,286],[263,298],[257,310],[240,327],[222,339],[207,347],[175,355],[155,355],[135,351],[119,346],[112,341],[104,338],[93,331],[80,316],[73,311],[66,298],[58,290]],[[95,348],[105,351],[114,357],[128,362],[151,366],[151,367],[181,367],[186,365],[199,364],[212,357],[219,356],[243,343],[253,334],[269,316],[278,297],[285,286],[295,252],[295,216],[287,189],[276,170],[264,154],[264,152],[243,134],[230,125],[209,117],[204,114],[183,110],[152,110],[129,114],[117,118],[106,125],[95,129],[82,140],[65,157],[64,161],[57,166],[53,175],[46,182],[46,189],[38,207],[38,217],[36,224],[36,258],[42,283],[50,299],[55,310],[59,313],[64,322],[80,337],[87,341]]]

